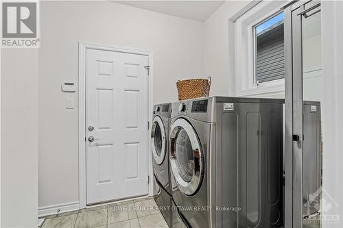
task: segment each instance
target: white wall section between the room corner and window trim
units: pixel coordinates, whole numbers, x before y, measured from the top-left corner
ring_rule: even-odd
[[[229,19],[250,1],[226,1],[204,22],[204,75],[211,75],[211,95],[233,96],[235,94],[235,72],[230,55]],[[234,51],[233,47],[230,50]],[[229,53],[230,52],[230,53]]]

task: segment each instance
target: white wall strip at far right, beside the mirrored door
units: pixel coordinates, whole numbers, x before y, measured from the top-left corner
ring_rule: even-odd
[[[322,1],[323,210],[322,227],[343,227],[343,2]],[[327,204],[328,205],[328,204]]]

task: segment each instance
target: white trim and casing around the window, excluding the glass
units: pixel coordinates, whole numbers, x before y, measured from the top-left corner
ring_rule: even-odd
[[[285,80],[254,83],[253,27],[280,11],[285,1],[261,1],[235,22],[235,95],[250,97],[259,94],[285,94]],[[267,15],[267,16],[266,16]]]

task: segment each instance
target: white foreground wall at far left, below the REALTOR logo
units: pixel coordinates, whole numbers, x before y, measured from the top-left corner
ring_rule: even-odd
[[[1,225],[37,227],[38,49],[1,49]]]

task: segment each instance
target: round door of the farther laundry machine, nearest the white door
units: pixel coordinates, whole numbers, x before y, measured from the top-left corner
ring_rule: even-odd
[[[155,116],[151,134],[152,155],[157,164],[165,159],[165,128],[159,116]]]

